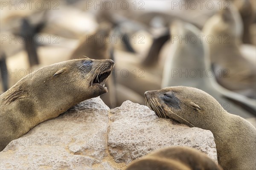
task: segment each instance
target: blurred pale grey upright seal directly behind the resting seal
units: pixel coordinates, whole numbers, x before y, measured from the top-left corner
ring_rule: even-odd
[[[233,114],[250,118],[256,113],[254,99],[218,85],[215,77],[220,75],[214,75],[210,68],[206,40],[203,38],[201,41],[199,37],[201,32],[198,28],[189,23],[175,22],[172,23],[170,32],[183,39],[184,37],[196,39],[195,42],[191,39],[186,43],[185,40],[183,43],[180,43],[180,40],[173,41],[164,65],[161,88],[178,85],[199,88],[213,96],[222,107]],[[177,74],[174,71],[177,71]]]

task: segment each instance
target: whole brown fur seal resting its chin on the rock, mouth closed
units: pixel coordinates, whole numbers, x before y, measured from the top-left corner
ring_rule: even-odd
[[[159,117],[210,130],[218,163],[225,170],[256,169],[256,129],[225,111],[212,96],[197,88],[176,86],[145,92],[148,106]]]

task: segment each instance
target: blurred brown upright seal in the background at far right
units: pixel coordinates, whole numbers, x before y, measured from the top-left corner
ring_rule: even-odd
[[[217,82],[224,88],[256,99],[256,63],[241,53],[242,28],[238,11],[230,6],[230,10],[221,10],[211,17],[203,32],[215,40],[207,45],[213,70],[224,75],[216,77]]]

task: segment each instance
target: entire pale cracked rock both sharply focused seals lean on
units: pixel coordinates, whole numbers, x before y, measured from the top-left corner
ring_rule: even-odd
[[[10,142],[0,152],[0,169],[123,169],[171,145],[195,147],[217,161],[210,131],[160,119],[130,101],[110,110],[97,97]]]

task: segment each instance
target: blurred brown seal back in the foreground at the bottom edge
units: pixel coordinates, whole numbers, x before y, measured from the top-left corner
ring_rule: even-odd
[[[222,170],[204,153],[190,147],[165,147],[132,161],[126,170]]]

